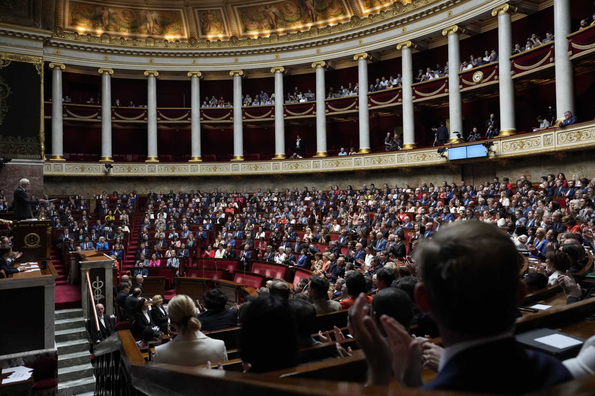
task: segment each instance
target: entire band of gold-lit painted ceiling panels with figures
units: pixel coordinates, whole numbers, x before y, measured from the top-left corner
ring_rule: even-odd
[[[15,0],[16,1],[16,0]],[[230,40],[283,36],[411,11],[436,0],[56,0],[58,32],[130,40]],[[394,14],[394,12],[390,12]],[[396,14],[394,14],[396,15]],[[56,29],[55,29],[56,30]]]

